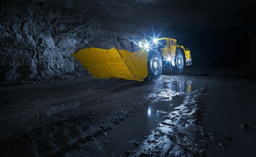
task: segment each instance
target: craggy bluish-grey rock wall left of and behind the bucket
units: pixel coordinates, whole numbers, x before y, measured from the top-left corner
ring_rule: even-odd
[[[71,53],[102,36],[137,37],[135,25],[43,2],[0,2],[0,81],[90,77]],[[98,43],[100,44],[100,43]]]

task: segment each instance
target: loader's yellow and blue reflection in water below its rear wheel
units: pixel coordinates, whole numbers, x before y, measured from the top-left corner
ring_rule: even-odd
[[[180,80],[174,82],[165,82],[163,84],[164,88],[171,89],[175,92],[191,92],[192,81],[188,80]]]

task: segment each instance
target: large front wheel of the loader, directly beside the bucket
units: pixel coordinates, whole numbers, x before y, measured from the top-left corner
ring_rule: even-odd
[[[148,76],[145,81],[157,80],[162,74],[162,56],[155,50],[148,51]]]

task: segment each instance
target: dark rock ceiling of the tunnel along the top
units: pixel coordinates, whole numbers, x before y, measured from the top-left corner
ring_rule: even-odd
[[[247,22],[251,0],[39,0],[67,12],[142,25],[212,27]]]

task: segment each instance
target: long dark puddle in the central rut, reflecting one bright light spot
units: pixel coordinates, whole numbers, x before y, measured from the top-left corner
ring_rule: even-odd
[[[163,116],[168,115],[176,106],[182,104],[184,97],[174,96],[170,101],[158,101],[148,108],[141,109],[130,118],[122,121],[114,130],[108,132],[110,143],[104,145],[107,154],[115,152],[124,155],[124,149],[134,150],[136,142],[142,142],[144,136],[151,133],[157,125],[164,121]]]

